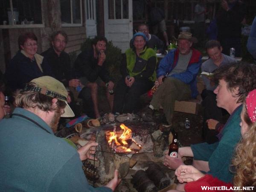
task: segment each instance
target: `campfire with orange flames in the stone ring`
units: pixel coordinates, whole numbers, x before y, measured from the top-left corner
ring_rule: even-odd
[[[140,151],[141,145],[137,144],[132,138],[132,131],[124,124],[120,125],[119,130],[114,129],[113,132],[106,132],[106,139],[109,146],[120,154],[134,154]]]

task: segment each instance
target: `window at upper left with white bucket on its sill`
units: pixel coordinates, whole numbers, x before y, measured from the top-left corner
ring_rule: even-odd
[[[1,0],[0,26],[36,27],[42,25],[41,0]]]

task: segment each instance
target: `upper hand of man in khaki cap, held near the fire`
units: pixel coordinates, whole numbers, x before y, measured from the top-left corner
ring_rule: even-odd
[[[98,143],[89,141],[86,145],[79,148],[77,152],[79,153],[80,160],[93,160],[93,154],[95,154],[95,146],[98,146]],[[95,160],[97,159],[95,158]]]

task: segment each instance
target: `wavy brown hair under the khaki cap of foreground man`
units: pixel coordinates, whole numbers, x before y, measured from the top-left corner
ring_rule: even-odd
[[[28,83],[29,86],[34,86],[34,83]],[[57,108],[52,106],[52,97],[43,95],[36,91],[18,90],[15,93],[15,107],[20,108],[39,108],[42,111],[54,111],[55,109],[65,108],[66,103],[58,100]]]

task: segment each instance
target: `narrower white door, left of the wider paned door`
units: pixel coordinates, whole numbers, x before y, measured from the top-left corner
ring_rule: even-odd
[[[85,26],[87,38],[93,38],[97,35],[96,26],[96,0],[85,0]]]

